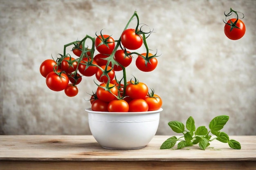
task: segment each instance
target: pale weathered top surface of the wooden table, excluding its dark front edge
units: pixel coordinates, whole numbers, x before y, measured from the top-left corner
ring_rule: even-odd
[[[240,142],[241,150],[217,140],[206,150],[198,145],[160,150],[168,137],[155,136],[142,149],[108,150],[90,135],[1,135],[0,161],[256,161],[256,136],[230,136]]]

